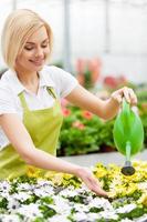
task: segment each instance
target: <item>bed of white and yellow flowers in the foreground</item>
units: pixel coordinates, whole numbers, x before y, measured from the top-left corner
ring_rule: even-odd
[[[127,222],[147,221],[147,162],[134,162],[136,173],[119,167],[92,168],[108,198],[95,195],[75,176],[30,170],[27,176],[0,182],[0,221]]]

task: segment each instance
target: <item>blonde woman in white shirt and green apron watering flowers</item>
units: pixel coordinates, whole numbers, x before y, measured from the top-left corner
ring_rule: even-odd
[[[8,17],[2,33],[9,70],[0,81],[0,179],[22,175],[28,165],[34,165],[43,173],[53,170],[74,174],[95,193],[107,195],[88,169],[55,157],[62,124],[60,98],[111,119],[124,97],[136,104],[136,95],[123,88],[102,101],[70,73],[45,65],[51,51],[52,30],[39,14],[20,9]]]

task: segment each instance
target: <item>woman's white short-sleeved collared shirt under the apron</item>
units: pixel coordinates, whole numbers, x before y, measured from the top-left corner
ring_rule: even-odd
[[[40,83],[38,94],[30,92],[19,81],[17,73],[8,70],[0,80],[0,114],[17,113],[21,119],[23,109],[18,94],[23,91],[30,110],[51,108],[54,99],[49,94],[46,87],[52,87],[59,99],[66,97],[77,84],[77,80],[64,70],[44,65],[39,72]],[[9,139],[0,128],[0,150],[10,143]]]

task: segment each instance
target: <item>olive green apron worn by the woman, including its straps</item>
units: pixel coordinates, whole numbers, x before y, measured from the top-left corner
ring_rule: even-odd
[[[48,88],[48,92],[54,98],[54,105],[42,110],[29,110],[23,92],[19,94],[19,98],[23,108],[23,123],[35,148],[56,155],[63,114],[60,101],[53,89]],[[29,165],[14,150],[12,144],[7,145],[0,151],[0,179],[13,179],[23,175],[28,172],[28,168]],[[42,173],[46,172],[46,170],[41,171]]]

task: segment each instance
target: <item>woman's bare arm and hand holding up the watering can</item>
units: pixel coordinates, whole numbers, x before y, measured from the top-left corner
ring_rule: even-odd
[[[90,112],[105,120],[112,119],[118,112],[123,98],[130,104],[137,103],[134,91],[129,88],[122,88],[112,93],[108,100],[101,100],[81,85],[77,85],[67,97],[70,102],[88,110]]]

